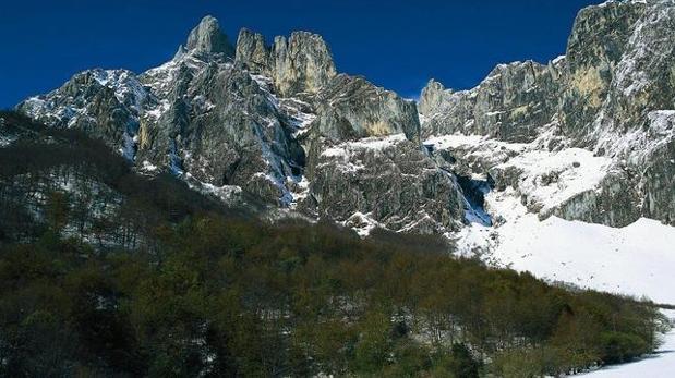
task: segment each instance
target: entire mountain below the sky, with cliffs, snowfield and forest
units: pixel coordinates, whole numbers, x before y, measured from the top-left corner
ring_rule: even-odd
[[[534,377],[653,353],[673,34],[675,1],[608,1],[564,57],[414,102],[318,35],[232,42],[206,16],[165,64],[0,111],[0,376]]]

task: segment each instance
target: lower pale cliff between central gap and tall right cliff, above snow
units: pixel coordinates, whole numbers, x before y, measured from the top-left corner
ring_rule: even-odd
[[[528,61],[497,65],[470,90],[453,92],[432,80],[420,97],[423,135],[459,132],[531,142],[555,113],[559,74],[553,63]]]

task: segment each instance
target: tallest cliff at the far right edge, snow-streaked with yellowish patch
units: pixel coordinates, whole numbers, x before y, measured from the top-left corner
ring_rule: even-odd
[[[625,195],[612,202],[612,210],[670,224],[675,224],[675,132],[672,113],[660,110],[675,109],[674,40],[672,1],[586,9],[568,45],[568,89],[561,107],[563,127],[579,145],[636,172],[615,186],[626,193],[638,187],[640,200]]]

